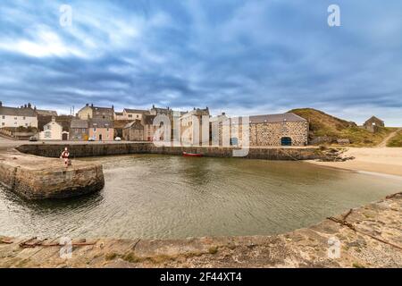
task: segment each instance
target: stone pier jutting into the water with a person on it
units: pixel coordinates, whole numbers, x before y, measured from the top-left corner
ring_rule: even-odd
[[[71,198],[105,186],[102,164],[74,162],[19,154],[0,156],[0,182],[28,199]]]

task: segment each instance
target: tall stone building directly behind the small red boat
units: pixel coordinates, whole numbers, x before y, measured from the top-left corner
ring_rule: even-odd
[[[206,122],[205,122],[206,121]],[[203,124],[203,122],[205,122]],[[194,108],[180,117],[180,141],[186,145],[209,145],[210,143],[209,108]]]

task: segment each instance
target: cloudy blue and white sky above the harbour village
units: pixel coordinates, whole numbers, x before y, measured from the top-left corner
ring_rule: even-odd
[[[402,126],[402,1],[2,0],[0,100],[63,114],[313,107]]]

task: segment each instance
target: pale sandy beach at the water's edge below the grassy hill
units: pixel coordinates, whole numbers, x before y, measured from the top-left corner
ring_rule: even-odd
[[[354,156],[355,159],[346,162],[308,162],[346,170],[402,176],[402,148],[348,147],[344,156]]]

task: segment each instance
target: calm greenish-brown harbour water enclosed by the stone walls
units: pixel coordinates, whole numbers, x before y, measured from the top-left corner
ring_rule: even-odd
[[[272,234],[401,190],[402,181],[301,162],[113,156],[105,189],[29,202],[0,189],[0,234],[186,238]]]

